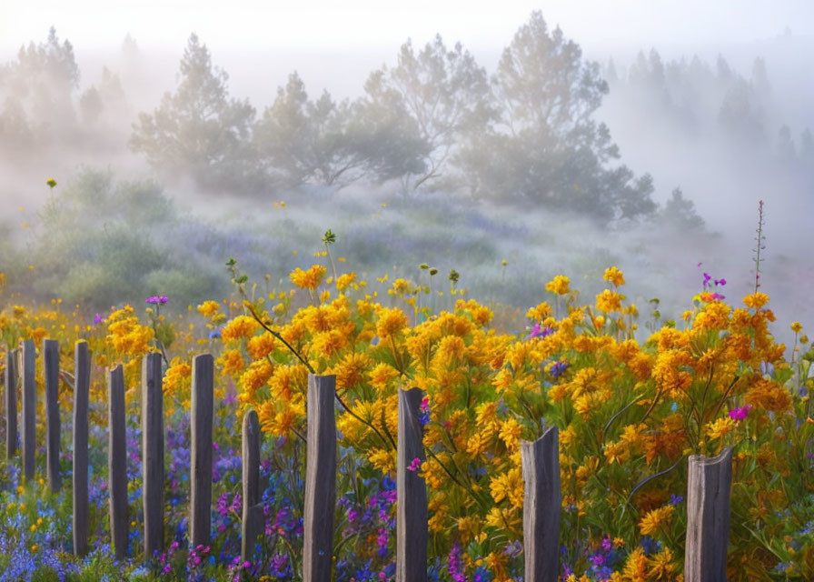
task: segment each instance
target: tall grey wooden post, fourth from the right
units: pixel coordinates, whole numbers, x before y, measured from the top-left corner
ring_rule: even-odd
[[[330,582],[336,505],[336,376],[308,375],[303,582]]]

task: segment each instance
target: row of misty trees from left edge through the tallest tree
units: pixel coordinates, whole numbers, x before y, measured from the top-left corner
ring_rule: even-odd
[[[133,45],[132,40],[127,41]],[[129,50],[133,50],[130,46]],[[258,72],[262,75],[262,71]],[[132,132],[117,75],[78,95],[73,46],[52,29],[0,69],[5,154],[126,139],[163,177],[262,198],[302,186],[398,183],[479,200],[545,206],[601,220],[652,216],[650,175],[620,163],[595,112],[608,93],[600,66],[535,12],[489,75],[462,45],[437,36],[402,45],[360,97],[310,95],[296,72],[258,110],[229,95],[228,75],[191,35],[177,85]]]

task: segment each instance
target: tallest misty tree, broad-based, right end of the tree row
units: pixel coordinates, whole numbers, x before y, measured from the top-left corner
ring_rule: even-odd
[[[650,176],[609,166],[619,148],[593,119],[608,93],[599,65],[559,28],[550,34],[540,12],[503,51],[492,87],[500,122],[464,156],[476,194],[601,219],[655,209]]]

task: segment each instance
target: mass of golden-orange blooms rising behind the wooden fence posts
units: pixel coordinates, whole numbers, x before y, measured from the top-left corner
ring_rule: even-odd
[[[779,428],[800,396],[786,386],[793,371],[783,359],[785,346],[769,333],[768,296],[745,297],[746,308],[699,301],[677,326],[645,338],[636,334],[635,306],[618,291],[624,275],[611,266],[603,275],[611,288],[594,305],[576,305],[569,278],[555,276],[545,286],[556,296],[551,306],[543,301],[518,312],[529,329],[501,334],[490,327],[504,316],[501,307],[460,299],[436,314],[405,310],[404,304],[415,306],[409,297],[415,286],[405,279],[395,280],[388,305],[381,305],[352,273],[335,279],[341,293],[332,299],[314,293],[326,273],[312,266],[291,274],[293,284],[309,292],[307,304],[287,291],[270,296],[284,302],[283,309],[253,304],[273,333],[238,304],[197,306],[210,328],[216,316],[225,323],[221,344],[204,340],[219,350],[217,382],[236,386],[241,412],[253,407],[264,431],[283,437],[282,447],[294,447],[306,430],[309,366],[334,375],[342,447],[356,452],[367,475],[397,469],[399,390],[421,388],[427,457],[420,475],[430,488],[429,527],[439,540],[477,542],[481,565],[495,579],[506,572],[504,550],[522,537],[521,440],[540,437],[543,418],[560,429],[563,536],[573,541],[578,530],[585,536],[585,523],[618,526],[610,532],[624,537],[617,547],[634,548],[612,580],[680,579],[680,548],[671,541],[681,535],[680,508],[669,499],[683,495],[686,476],[664,471],[683,457],[740,446],[734,475],[742,480],[733,495],[752,487],[746,467],[767,475],[791,470],[789,447],[796,441]],[[289,314],[289,305],[299,308]],[[227,321],[226,313],[238,315]],[[41,339],[63,322],[57,313],[48,317],[10,306],[0,313],[0,325],[7,336]],[[137,358],[149,351],[153,328],[130,306],[111,313],[100,328],[104,337],[94,339],[84,329],[70,337],[91,336],[98,365],[128,360],[128,377],[137,376]],[[791,329],[802,330],[796,322]],[[179,350],[193,344],[194,334],[177,336]],[[184,403],[190,374],[187,358],[174,357],[164,376],[166,393]],[[814,421],[801,426],[811,430]],[[637,487],[656,474],[648,487]],[[772,495],[755,492],[755,515],[771,515]],[[601,538],[592,528],[596,547]],[[637,547],[639,535],[657,537],[663,547],[646,555]],[[733,555],[747,555],[741,542],[733,541]]]

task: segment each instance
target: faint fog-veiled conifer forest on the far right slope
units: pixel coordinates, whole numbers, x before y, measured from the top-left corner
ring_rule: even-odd
[[[650,49],[627,66],[609,59],[602,66],[611,87],[603,118],[613,120],[636,163],[660,179],[680,174],[696,196],[753,205],[772,193],[796,206],[814,188],[810,64],[794,62],[799,48],[789,36],[763,49],[783,56],[776,86],[762,56],[746,75],[723,55],[711,63],[698,56],[666,60]]]

